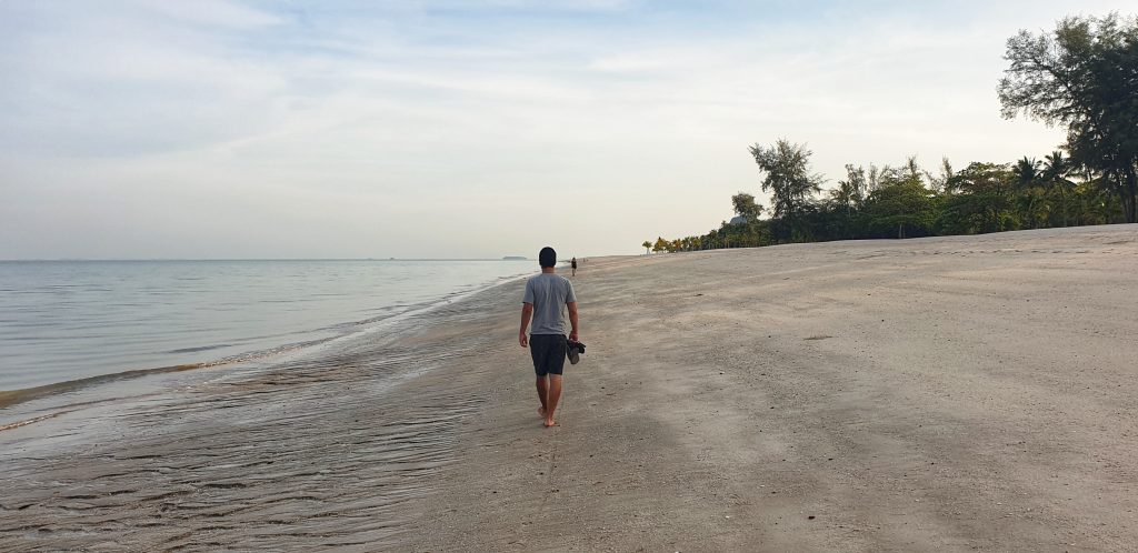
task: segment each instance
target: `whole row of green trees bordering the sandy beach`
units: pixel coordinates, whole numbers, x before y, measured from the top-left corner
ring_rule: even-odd
[[[718,229],[641,246],[685,251],[1138,222],[1138,17],[1069,17],[1052,33],[1021,31],[1005,59],[1001,115],[1066,127],[1055,151],[958,171],[947,158],[935,171],[916,157],[850,164],[823,191],[805,145],[754,145],[769,208],[740,192],[731,198],[736,217]]]

